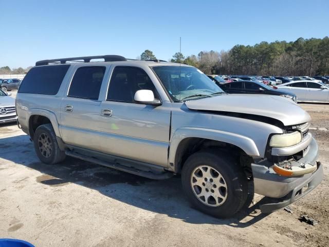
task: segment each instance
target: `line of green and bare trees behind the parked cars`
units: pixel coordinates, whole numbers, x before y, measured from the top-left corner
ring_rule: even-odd
[[[148,60],[156,57],[151,50],[145,50],[140,59]],[[329,38],[261,42],[254,46],[235,45],[227,51],[200,51],[197,55],[187,57],[176,52],[169,61],[195,66],[206,74],[327,75],[329,74]]]

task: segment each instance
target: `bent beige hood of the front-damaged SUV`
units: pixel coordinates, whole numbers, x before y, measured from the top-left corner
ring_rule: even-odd
[[[291,99],[273,95],[225,94],[186,101],[191,110],[244,113],[277,119],[284,126],[308,122],[310,117]]]

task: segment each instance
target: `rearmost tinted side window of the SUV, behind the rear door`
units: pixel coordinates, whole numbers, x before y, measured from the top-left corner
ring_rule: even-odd
[[[31,68],[22,81],[19,93],[56,95],[69,66],[65,64]]]

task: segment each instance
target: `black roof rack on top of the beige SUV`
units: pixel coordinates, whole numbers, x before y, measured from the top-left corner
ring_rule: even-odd
[[[53,64],[64,64],[66,62],[85,62],[88,63],[92,59],[104,59],[104,62],[114,62],[114,61],[127,61],[126,58],[118,55],[104,55],[104,56],[89,56],[89,57],[76,57],[76,58],[59,58],[50,60],[41,60],[35,63],[35,66]],[[83,61],[79,61],[83,60]]]

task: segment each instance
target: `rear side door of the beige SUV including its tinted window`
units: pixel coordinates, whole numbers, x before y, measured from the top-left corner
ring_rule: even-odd
[[[105,73],[105,66],[76,69],[61,104],[60,131],[64,143],[101,150],[96,132],[101,114],[99,95]]]

